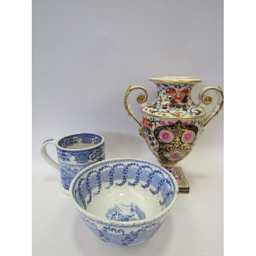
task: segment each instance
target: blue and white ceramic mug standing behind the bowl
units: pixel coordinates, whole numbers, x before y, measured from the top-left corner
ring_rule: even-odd
[[[104,143],[101,135],[79,133],[63,137],[58,141],[48,139],[42,144],[42,156],[60,173],[63,193],[69,195],[71,181],[83,168],[105,159]],[[58,163],[48,155],[46,151],[48,144],[56,147]]]

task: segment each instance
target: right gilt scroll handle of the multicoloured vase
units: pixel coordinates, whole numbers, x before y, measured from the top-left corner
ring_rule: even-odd
[[[218,101],[214,107],[214,109],[210,112],[210,114],[205,118],[204,126],[214,117],[218,115],[220,110],[223,107],[224,103],[224,95],[221,87],[205,87],[201,90],[201,92],[198,95],[199,98],[199,105],[202,106],[202,108],[205,108],[206,105],[209,105],[212,102],[212,97],[210,95],[204,95],[206,92],[214,90],[218,95]]]

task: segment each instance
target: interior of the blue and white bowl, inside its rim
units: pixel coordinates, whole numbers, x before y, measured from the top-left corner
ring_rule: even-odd
[[[137,221],[161,213],[174,199],[177,183],[154,163],[113,159],[84,169],[71,189],[76,203],[91,215]]]

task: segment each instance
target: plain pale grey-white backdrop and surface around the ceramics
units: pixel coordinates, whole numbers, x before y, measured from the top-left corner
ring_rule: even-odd
[[[223,255],[223,110],[180,162],[190,194],[179,195],[151,240],[130,248],[91,236],[40,155],[46,139],[94,132],[105,137],[106,159],[157,163],[123,105],[129,84],[150,102],[152,76],[201,78],[195,103],[206,86],[224,91],[223,1],[32,1],[33,255]]]

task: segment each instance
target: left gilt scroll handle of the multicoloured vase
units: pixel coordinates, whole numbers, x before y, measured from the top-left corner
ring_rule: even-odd
[[[136,90],[136,89],[139,89],[139,90],[142,90],[145,94],[138,94],[136,99],[137,99],[137,102],[140,103],[142,105],[142,108],[143,106],[145,106],[147,103],[146,103],[146,100],[147,100],[147,91],[145,88],[143,88],[142,86],[131,86],[131,84],[129,85],[129,88],[127,89],[126,93],[125,93],[125,96],[124,96],[124,107],[126,109],[126,111],[128,112],[128,115],[131,116],[139,125],[140,127],[142,127],[142,123],[141,121],[136,117],[136,115],[134,114],[132,108],[131,108],[131,105],[128,101],[128,96],[129,94],[133,91],[133,90]],[[139,129],[140,131],[140,135],[143,137],[143,131],[141,130],[141,128]]]

